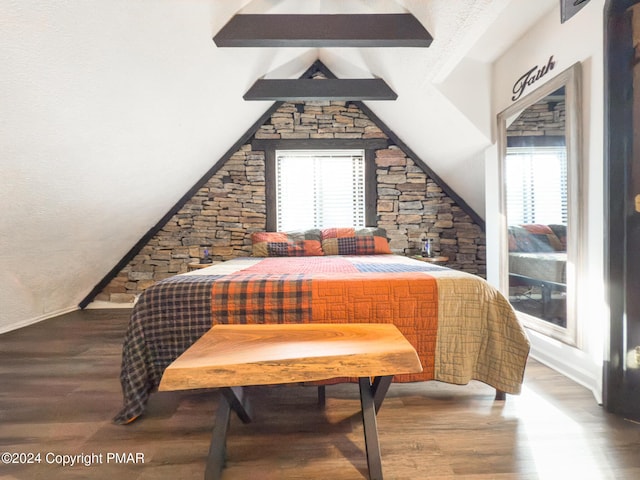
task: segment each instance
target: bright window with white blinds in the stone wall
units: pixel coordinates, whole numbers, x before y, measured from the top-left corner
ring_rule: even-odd
[[[276,151],[279,231],[365,226],[363,150]]]

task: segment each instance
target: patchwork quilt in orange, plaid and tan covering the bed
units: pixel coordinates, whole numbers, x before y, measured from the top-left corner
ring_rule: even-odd
[[[394,254],[237,258],[140,296],[123,345],[124,404],[113,421],[141,415],[164,369],[213,324],[267,322],[394,323],[424,368],[399,382],[475,379],[518,394],[529,353],[508,301],[475,275]]]

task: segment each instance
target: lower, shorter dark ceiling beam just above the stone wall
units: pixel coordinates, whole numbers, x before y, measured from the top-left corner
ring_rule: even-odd
[[[245,100],[395,100],[398,95],[380,78],[260,79],[244,94]]]

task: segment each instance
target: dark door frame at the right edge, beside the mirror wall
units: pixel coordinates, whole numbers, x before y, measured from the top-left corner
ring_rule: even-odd
[[[633,126],[633,46],[629,8],[640,0],[607,0],[604,7],[605,285],[610,311],[604,363],[604,407],[640,420],[640,142]],[[640,92],[638,92],[640,95]],[[637,120],[637,119],[636,119]],[[635,143],[635,146],[634,146]],[[640,200],[640,197],[638,197]]]

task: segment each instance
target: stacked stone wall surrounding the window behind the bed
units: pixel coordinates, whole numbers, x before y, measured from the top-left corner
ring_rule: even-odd
[[[387,138],[355,104],[285,103],[259,139]],[[482,229],[397,146],[376,152],[378,226],[394,253],[415,254],[428,236],[447,266],[485,275]],[[251,233],[265,230],[265,154],[242,146],[96,297],[132,301],[163,278],[187,271],[207,246],[214,260],[251,255]]]

